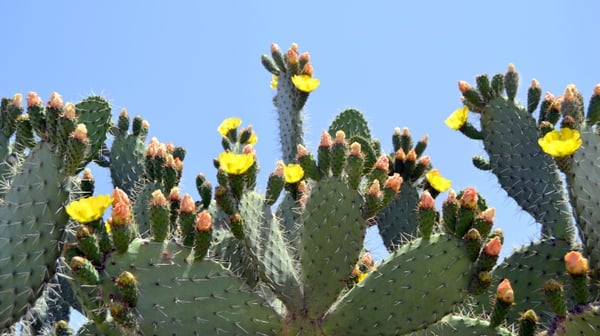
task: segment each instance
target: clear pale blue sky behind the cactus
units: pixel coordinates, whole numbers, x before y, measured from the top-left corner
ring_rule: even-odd
[[[475,186],[498,209],[504,253],[538,229],[495,176],[472,167],[481,143],[445,127],[461,106],[457,81],[512,62],[521,101],[532,78],[557,95],[575,83],[586,101],[600,82],[592,1],[6,1],[0,12],[2,96],[96,93],[115,116],[122,107],[141,114],[151,136],[187,148],[184,189],[194,198],[197,173],[214,181],[216,127],[228,116],[254,125],[264,187],[278,136],[260,55],[297,42],[321,79],[306,107],[309,149],[348,107],[367,115],[388,151],[395,126],[428,134],[427,154],[453,187]],[[93,171],[108,191],[106,171]]]

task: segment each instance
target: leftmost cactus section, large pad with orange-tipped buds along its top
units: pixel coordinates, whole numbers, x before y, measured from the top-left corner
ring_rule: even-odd
[[[2,329],[28,312],[55,274],[73,175],[89,162],[108,127],[102,114],[89,117],[89,104],[101,106],[110,116],[110,106],[99,97],[74,105],[52,93],[44,105],[30,92],[27,113],[20,94],[2,100],[1,160],[3,167],[10,167],[2,176],[7,187],[0,204]]]

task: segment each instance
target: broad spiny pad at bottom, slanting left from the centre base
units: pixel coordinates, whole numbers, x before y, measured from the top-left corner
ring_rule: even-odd
[[[187,262],[187,253],[170,242],[134,240],[126,254],[107,260],[102,283],[105,301],[110,306],[123,298],[113,279],[127,270],[137,282],[135,310],[143,317],[131,325],[146,335],[173,330],[184,335],[281,332],[281,318],[264,299],[212,260]]]

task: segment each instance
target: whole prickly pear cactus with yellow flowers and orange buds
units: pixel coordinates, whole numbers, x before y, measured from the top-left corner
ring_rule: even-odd
[[[542,227],[539,241],[496,265],[496,210],[473,187],[449,189],[425,155],[427,136],[415,142],[396,128],[393,151],[382,153],[362,114],[347,109],[311,153],[302,108],[319,81],[309,54],[274,44],[261,61],[273,75],[282,149],[264,193],[256,133],[238,118],[218,127],[217,184],[199,174],[194,201],[179,186],[185,151],[146,144],[141,117],[131,126],[122,111],[112,124],[98,97],[63,106],[53,95],[44,108],[30,95],[28,117],[19,96],[3,100],[0,294],[17,291],[1,294],[3,329],[28,312],[59,252],[89,319],[80,335],[575,335],[599,325],[600,90],[584,117],[574,86],[540,104],[534,81],[521,107],[514,66],[478,76],[476,87],[459,83],[464,107],[448,126],[483,141],[489,160],[473,163]],[[480,129],[466,121],[469,110]],[[110,169],[112,195],[94,195],[89,171],[74,176],[91,161]],[[446,191],[440,211],[435,199]],[[46,231],[25,231],[36,223]],[[380,264],[363,246],[373,225],[390,252]],[[65,321],[52,329],[72,334]]]

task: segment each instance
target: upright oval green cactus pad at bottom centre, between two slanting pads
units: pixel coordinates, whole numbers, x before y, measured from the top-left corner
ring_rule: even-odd
[[[313,186],[304,209],[299,254],[305,308],[319,318],[345,287],[365,236],[361,197],[341,178]]]

